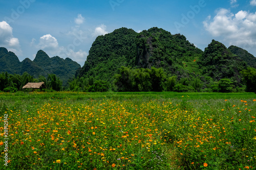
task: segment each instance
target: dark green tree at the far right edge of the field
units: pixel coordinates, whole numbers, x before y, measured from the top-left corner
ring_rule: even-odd
[[[246,84],[246,91],[256,93],[256,69],[248,67],[241,71],[243,81]]]

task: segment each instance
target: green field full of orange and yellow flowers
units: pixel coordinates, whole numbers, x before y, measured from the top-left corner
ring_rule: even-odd
[[[255,169],[255,117],[254,93],[0,93],[0,169]]]

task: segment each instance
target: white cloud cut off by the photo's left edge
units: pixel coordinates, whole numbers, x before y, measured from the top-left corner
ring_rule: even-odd
[[[6,47],[16,55],[22,54],[18,38],[13,37],[12,27],[6,22],[0,22],[0,46]]]

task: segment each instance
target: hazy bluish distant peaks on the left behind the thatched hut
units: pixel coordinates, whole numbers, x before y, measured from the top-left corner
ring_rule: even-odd
[[[48,74],[55,74],[66,85],[70,78],[81,66],[70,58],[62,59],[58,56],[50,58],[44,51],[39,50],[33,61],[26,58],[22,62],[18,57],[4,47],[0,47],[0,72],[22,75],[27,71],[34,78],[39,76],[47,77]]]

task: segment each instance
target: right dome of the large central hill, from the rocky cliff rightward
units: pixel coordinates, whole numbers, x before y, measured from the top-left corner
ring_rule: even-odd
[[[162,67],[169,74],[186,76],[189,71],[184,62],[192,62],[202,55],[202,51],[180,34],[151,28],[137,36],[136,65],[143,68]]]

